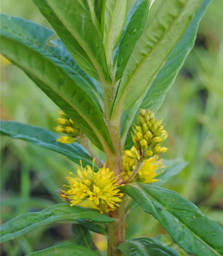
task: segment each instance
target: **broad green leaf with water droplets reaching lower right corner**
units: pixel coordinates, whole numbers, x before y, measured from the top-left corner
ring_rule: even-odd
[[[223,255],[223,228],[178,193],[138,182],[125,185],[121,190],[152,214],[188,253]]]

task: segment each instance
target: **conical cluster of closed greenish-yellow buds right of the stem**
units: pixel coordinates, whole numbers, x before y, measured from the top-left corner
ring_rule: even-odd
[[[162,120],[156,120],[154,112],[149,109],[140,109],[138,125],[135,125],[132,133],[132,140],[140,156],[148,159],[157,154],[165,153],[166,147],[161,144],[168,137],[167,131],[161,125]],[[126,150],[125,156],[136,159],[137,155],[132,150]]]

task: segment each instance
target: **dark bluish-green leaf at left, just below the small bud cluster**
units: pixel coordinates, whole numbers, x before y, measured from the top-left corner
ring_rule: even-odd
[[[1,121],[0,134],[12,138],[29,141],[32,144],[60,153],[77,164],[80,159],[84,166],[92,164],[92,157],[87,150],[78,143],[62,144],[57,142],[59,138],[55,133],[37,126],[26,125],[13,121]]]

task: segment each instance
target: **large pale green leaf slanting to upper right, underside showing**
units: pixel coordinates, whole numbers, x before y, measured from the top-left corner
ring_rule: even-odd
[[[113,113],[124,113],[148,89],[156,72],[181,39],[202,0],[163,1],[137,41],[123,72]],[[137,88],[137,90],[136,90]]]

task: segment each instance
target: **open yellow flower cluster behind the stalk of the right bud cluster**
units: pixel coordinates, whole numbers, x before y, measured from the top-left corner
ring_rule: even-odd
[[[133,146],[131,148],[131,151],[136,153],[137,160],[139,160],[140,156],[136,148]],[[153,183],[156,181],[160,181],[159,179],[154,179],[155,177],[159,176],[161,173],[164,172],[162,170],[161,172],[157,173],[157,170],[165,168],[162,164],[162,159],[158,160],[158,156],[153,156],[149,159],[145,159],[145,161],[142,164],[142,167],[139,169],[138,174],[136,175],[136,180],[143,183]],[[130,176],[132,171],[135,168],[135,163],[137,161],[136,159],[131,159],[130,157],[127,157],[126,155],[123,156],[123,172],[124,172],[124,180],[127,180],[127,178]]]

